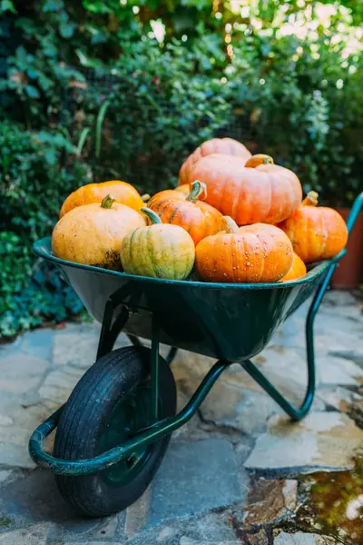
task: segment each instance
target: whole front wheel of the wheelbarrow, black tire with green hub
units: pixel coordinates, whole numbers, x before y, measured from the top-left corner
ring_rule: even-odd
[[[159,418],[176,411],[175,381],[160,358]],[[126,347],[100,358],[78,382],[59,421],[54,456],[93,458],[123,444],[152,423],[150,350]],[[74,510],[102,517],[140,498],[167,450],[171,437],[135,448],[127,458],[92,475],[56,475],[58,489]]]

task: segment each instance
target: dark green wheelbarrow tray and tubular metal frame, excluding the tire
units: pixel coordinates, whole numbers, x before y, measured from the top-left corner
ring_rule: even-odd
[[[356,199],[348,217],[349,233],[362,206],[363,193]],[[106,474],[114,464],[120,465],[132,457],[133,452],[146,450],[189,421],[213,384],[231,363],[239,363],[292,420],[300,420],[309,411],[315,393],[314,320],[338,260],[345,251],[329,262],[319,263],[302,279],[258,284],[173,282],[64,262],[52,254],[50,238],[35,243],[34,252],[61,267],[86,308],[96,320],[102,322],[95,366],[110,352],[115,353],[112,352],[113,345],[122,331],[128,334],[135,347],[141,346],[138,337],[151,340],[150,389],[147,398],[150,420],[146,421],[147,425],[134,431],[122,444],[100,451],[92,458],[74,460],[70,455],[68,459],[60,459],[45,452],[43,444],[45,438],[57,427],[66,403],[38,426],[30,438],[30,455],[40,467],[67,479],[75,479],[75,484],[78,482],[77,476],[100,472],[101,475],[103,472]],[[309,307],[305,330],[308,385],[304,400],[296,407],[250,358],[261,352],[280,323],[313,292],[315,294]],[[166,359],[168,364],[172,362],[178,348],[218,360],[182,411],[166,418],[160,417],[159,403],[163,395],[160,388],[161,342],[172,347]],[[137,472],[130,479],[136,479],[136,475]],[[117,488],[117,481],[113,485]],[[123,508],[134,499],[126,498],[118,505]],[[87,511],[74,500],[73,505],[83,514],[93,516],[118,510],[115,507]]]

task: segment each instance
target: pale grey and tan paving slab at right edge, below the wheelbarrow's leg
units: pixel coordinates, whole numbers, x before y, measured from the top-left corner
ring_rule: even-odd
[[[352,467],[363,431],[346,414],[310,412],[299,422],[272,417],[245,467],[270,472],[337,471]]]

